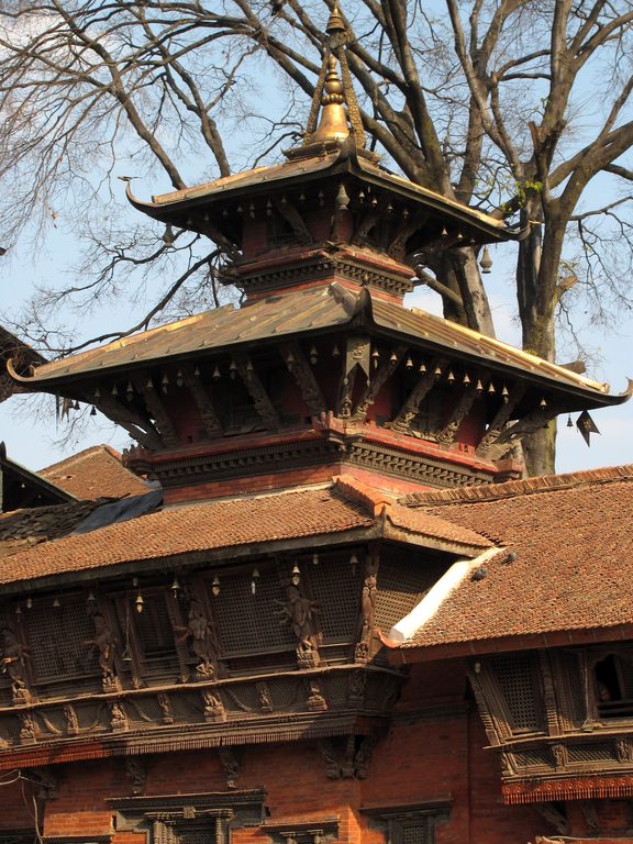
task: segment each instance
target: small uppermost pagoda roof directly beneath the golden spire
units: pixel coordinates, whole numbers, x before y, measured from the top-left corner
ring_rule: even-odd
[[[288,189],[309,181],[321,181],[327,176],[342,175],[351,175],[365,185],[386,189],[413,201],[418,207],[427,209],[434,215],[458,227],[465,237],[500,242],[520,240],[526,233],[509,229],[503,220],[498,220],[390,173],[369,157],[358,154],[355,146],[349,143],[324,147],[319,155],[291,159],[269,167],[257,167],[203,185],[153,196],[149,202],[136,198],[132,193],[130,184],[126,187],[126,196],[135,209],[154,220],[197,229],[191,221],[187,220],[189,213],[197,208],[224,203],[229,198],[238,200],[241,197],[254,198],[259,193],[268,196],[271,191]],[[231,237],[231,231],[223,231],[225,225],[230,225],[229,222],[223,223],[220,219],[215,219],[214,225]]]

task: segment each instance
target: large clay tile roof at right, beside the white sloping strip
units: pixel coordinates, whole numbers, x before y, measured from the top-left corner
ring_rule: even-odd
[[[633,623],[633,465],[404,500],[503,548],[404,647]]]

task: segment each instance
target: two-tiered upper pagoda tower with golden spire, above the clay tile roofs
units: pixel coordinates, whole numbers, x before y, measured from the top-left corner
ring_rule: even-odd
[[[524,434],[628,397],[403,307],[417,263],[522,233],[378,164],[337,13],[327,32],[304,142],[286,163],[152,202],[129,193],[151,218],[214,241],[243,307],[13,370],[24,388],[123,425],[138,443],[127,465],[167,500],[341,471],[411,491],[518,477]]]

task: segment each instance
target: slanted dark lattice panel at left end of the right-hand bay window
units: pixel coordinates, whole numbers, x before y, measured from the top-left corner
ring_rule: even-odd
[[[543,729],[538,678],[531,654],[497,656],[490,660],[512,732]]]

